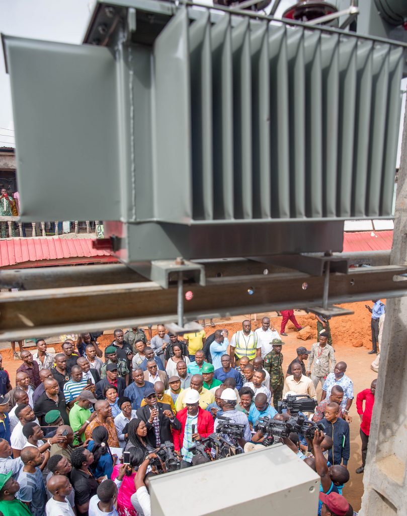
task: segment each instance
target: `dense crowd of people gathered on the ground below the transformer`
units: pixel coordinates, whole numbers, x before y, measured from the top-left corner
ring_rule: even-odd
[[[38,339],[35,352],[21,352],[14,387],[0,367],[0,513],[150,516],[148,478],[166,471],[160,447],[170,442],[180,468],[193,467],[199,461],[190,448],[216,432],[224,416],[242,425],[242,453],[261,449],[259,418],[286,421],[290,411],[279,401],[296,394],[315,400],[305,415],[324,431],[281,442],[320,476],[316,513],[353,514],[342,492],[350,477],[353,382],[326,327],[311,350],[297,348],[286,372],[284,342],[268,317],[256,331],[244,320],[230,341],[225,329],[180,337],[162,325],[148,337],[141,328],[117,329],[105,350],[97,337],[68,339],[55,355]],[[376,380],[357,395],[357,473],[365,465],[375,390]]]

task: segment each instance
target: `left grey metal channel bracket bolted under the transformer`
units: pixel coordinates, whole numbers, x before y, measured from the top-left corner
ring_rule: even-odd
[[[202,286],[206,284],[205,267],[181,257],[176,260],[135,263],[131,265],[131,268],[163,288],[168,288],[170,283],[178,282],[179,273],[182,275],[182,281],[199,283]]]

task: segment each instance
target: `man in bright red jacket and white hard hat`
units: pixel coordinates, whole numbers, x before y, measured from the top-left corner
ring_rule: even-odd
[[[173,428],[174,448],[181,460],[181,469],[192,466],[192,451],[188,448],[194,441],[200,441],[213,433],[213,417],[211,412],[199,407],[199,393],[193,389],[186,393],[186,407],[177,414],[181,430]]]

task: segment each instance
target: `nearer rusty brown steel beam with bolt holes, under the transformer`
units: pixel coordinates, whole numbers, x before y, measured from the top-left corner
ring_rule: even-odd
[[[401,278],[405,273],[407,266],[361,267],[350,269],[348,275],[331,273],[329,303],[407,295],[407,283]],[[295,271],[207,277],[205,287],[184,284],[183,290],[193,292],[193,299],[184,303],[185,319],[220,317],[318,307],[324,278]],[[0,295],[2,340],[176,320],[176,286],[163,289],[154,282],[42,288]]]

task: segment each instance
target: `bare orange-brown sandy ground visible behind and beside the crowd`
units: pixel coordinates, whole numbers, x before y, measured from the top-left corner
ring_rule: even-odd
[[[368,302],[372,304],[370,301]],[[331,332],[333,346],[335,348],[336,361],[344,361],[348,364],[347,375],[353,380],[354,384],[354,396],[363,389],[367,389],[370,386],[372,380],[377,378],[377,374],[370,369],[370,364],[374,360],[374,356],[367,354],[367,351],[371,349],[371,338],[370,338],[370,314],[364,307],[364,302],[349,303],[343,305],[354,311],[353,315],[347,315],[343,317],[336,317],[331,319]],[[286,326],[285,332],[287,337],[282,337],[284,341],[283,347],[283,370],[284,374],[289,363],[296,356],[296,348],[298,346],[306,346],[307,349],[311,348],[311,344],[316,342],[316,321],[313,315],[306,314],[305,312],[294,312],[299,324],[301,326],[309,326],[311,337],[308,340],[301,340],[298,333],[294,330],[294,326],[289,322]],[[270,312],[267,314],[257,314],[257,322],[253,320],[254,315],[251,315],[252,329],[256,329],[261,326],[261,318],[267,315],[270,317],[271,323],[275,326],[276,330],[280,332],[281,317],[277,317],[276,312]],[[222,319],[214,319],[216,328],[227,328],[229,330],[229,336],[242,329],[242,321],[248,318],[249,314],[242,315],[241,317],[225,317]],[[205,331],[207,335],[210,335],[215,331],[216,328],[212,328],[208,325],[209,320],[206,321],[207,325]],[[106,331],[104,335],[98,338],[98,342],[101,347],[105,348],[113,340],[112,331]],[[147,333],[147,329],[146,329]],[[155,334],[155,328],[153,328],[153,334]],[[61,351],[61,344],[57,343],[57,338],[47,339],[49,347],[53,347],[56,352]],[[7,345],[4,343],[4,345]],[[8,345],[9,346],[9,345]],[[3,348],[3,346],[2,346]],[[26,349],[35,349],[31,346],[25,346]],[[3,366],[8,371],[11,379],[11,383],[15,385],[15,372],[16,369],[21,365],[20,360],[14,360],[12,357],[11,349],[1,349],[3,356]],[[320,385],[317,389],[318,399],[321,396]],[[363,474],[358,475],[355,470],[361,465],[361,451],[360,451],[360,420],[356,411],[355,400],[350,408],[349,414],[352,416],[353,421],[350,425],[350,436],[351,436],[351,456],[348,463],[350,480],[345,486],[344,495],[348,501],[352,504],[353,509],[358,511],[361,506],[361,498],[363,494]]]

